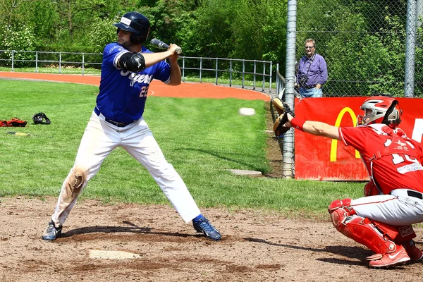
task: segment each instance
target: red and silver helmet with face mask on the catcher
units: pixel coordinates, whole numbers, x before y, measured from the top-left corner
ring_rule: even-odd
[[[395,128],[400,124],[403,114],[397,99],[383,96],[366,99],[360,109],[364,110],[364,116],[358,116],[357,125],[384,123]]]

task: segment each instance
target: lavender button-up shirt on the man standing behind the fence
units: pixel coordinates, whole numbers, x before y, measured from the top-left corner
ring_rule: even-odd
[[[311,59],[307,56],[303,56],[298,63],[298,82],[300,82],[302,75],[307,75],[307,82],[305,82],[305,85],[300,85],[301,87],[305,86],[310,88],[316,86],[317,84],[324,85],[328,79],[328,68],[324,58],[317,53],[314,53]]]

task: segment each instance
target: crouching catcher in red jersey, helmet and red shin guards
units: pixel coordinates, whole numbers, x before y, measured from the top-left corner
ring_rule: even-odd
[[[371,181],[364,196],[331,202],[329,214],[336,229],[375,254],[370,267],[417,262],[423,257],[412,238],[412,223],[423,222],[423,149],[398,128],[402,110],[389,97],[366,99],[357,127],[336,128],[286,114],[286,127],[342,140],[360,152]]]

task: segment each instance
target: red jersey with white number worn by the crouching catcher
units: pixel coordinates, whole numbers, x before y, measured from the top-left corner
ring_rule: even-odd
[[[360,152],[369,176],[384,194],[397,188],[423,192],[422,145],[402,129],[373,124],[339,128],[339,135]]]

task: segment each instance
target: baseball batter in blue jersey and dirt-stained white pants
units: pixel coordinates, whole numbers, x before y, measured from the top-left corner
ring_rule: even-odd
[[[104,48],[97,104],[82,136],[75,164],[64,180],[51,221],[42,235],[55,240],[87,182],[99,171],[116,147],[145,166],[185,222],[197,232],[220,240],[221,234],[202,216],[185,183],[169,164],[143,118],[150,82],[180,84],[176,44],[153,53],[142,43],[149,34],[149,20],[140,13],[125,13],[117,29],[117,42]],[[168,63],[164,60],[168,59]]]

